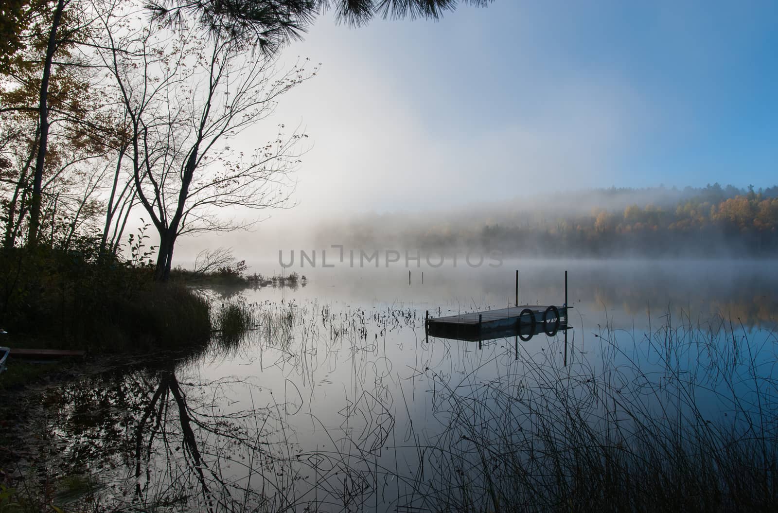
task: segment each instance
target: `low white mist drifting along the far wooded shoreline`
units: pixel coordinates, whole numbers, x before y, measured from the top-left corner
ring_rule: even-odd
[[[418,251],[422,258],[433,252],[500,258],[773,258],[778,186],[601,188],[388,213],[346,213],[333,205],[313,215],[301,205],[273,213],[249,232],[185,238],[177,261],[191,267],[203,248],[219,246],[247,262],[279,262],[279,251],[288,259],[292,250],[316,250],[320,258],[327,250],[331,258],[338,251],[333,245],[347,254],[353,250],[356,258],[360,251]],[[276,264],[260,272],[280,270]]]

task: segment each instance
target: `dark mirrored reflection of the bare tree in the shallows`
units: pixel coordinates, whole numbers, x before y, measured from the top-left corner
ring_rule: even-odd
[[[111,369],[44,392],[47,420],[37,425],[37,438],[57,449],[33,462],[37,479],[88,473],[96,486],[68,509],[90,502],[98,510],[282,511],[301,504],[348,510],[373,494],[375,476],[367,466],[359,469],[366,459],[346,459],[342,451],[380,451],[391,416],[377,436],[302,452],[282,419],[297,406],[255,405],[251,395],[250,408],[234,409],[230,391],[247,383],[199,381],[186,360]],[[377,399],[360,399],[344,415],[363,414],[371,404]]]

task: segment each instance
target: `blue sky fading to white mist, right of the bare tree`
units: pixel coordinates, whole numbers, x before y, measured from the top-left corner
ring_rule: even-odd
[[[314,145],[296,218],[510,199],[549,181],[778,182],[778,2],[496,0],[359,29],[325,15],[281,62],[297,55],[321,72],[275,116]]]

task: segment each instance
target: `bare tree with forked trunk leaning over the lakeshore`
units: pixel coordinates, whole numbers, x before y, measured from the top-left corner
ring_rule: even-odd
[[[231,149],[230,140],[267,119],[279,97],[316,69],[279,71],[261,52],[199,29],[133,29],[110,16],[103,26],[101,54],[128,114],[135,195],[159,234],[155,278],[164,281],[180,235],[255,222],[220,210],[288,206],[289,172],[307,135],[279,125],[251,154]]]

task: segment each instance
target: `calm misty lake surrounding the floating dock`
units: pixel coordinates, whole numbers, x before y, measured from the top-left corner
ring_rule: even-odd
[[[512,305],[516,269],[520,304],[561,305],[569,272],[566,366],[562,332],[426,339],[426,311]],[[628,467],[725,434],[759,441],[750,461],[775,455],[772,262],[286,271],[307,279],[203,291],[251,309],[240,341],[42,391],[35,465],[82,476],[73,500],[107,509],[492,511],[559,508],[593,446]],[[590,459],[591,476],[622,461]]]

